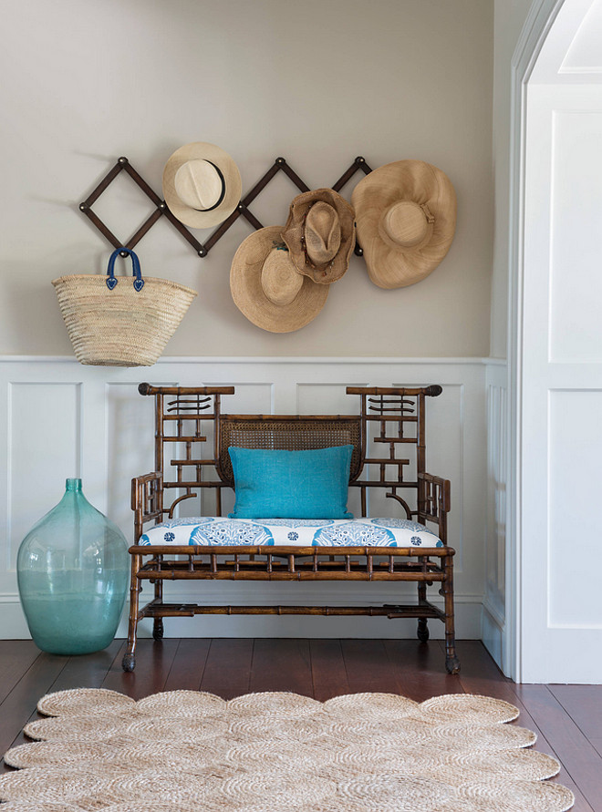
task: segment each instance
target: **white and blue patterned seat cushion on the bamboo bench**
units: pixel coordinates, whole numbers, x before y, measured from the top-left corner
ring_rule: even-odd
[[[442,547],[438,536],[407,519],[170,519],[148,529],[140,545],[286,545],[289,547]]]

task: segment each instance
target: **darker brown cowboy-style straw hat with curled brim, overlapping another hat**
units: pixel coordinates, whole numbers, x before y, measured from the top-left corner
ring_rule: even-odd
[[[353,209],[336,191],[297,195],[282,232],[296,270],[318,284],[340,279],[356,244],[355,225]]]

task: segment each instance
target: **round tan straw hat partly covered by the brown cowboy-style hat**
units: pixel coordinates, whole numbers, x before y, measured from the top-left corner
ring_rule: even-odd
[[[247,319],[270,333],[305,327],[324,307],[328,286],[296,271],[282,239],[282,226],[250,234],[234,254],[230,290]]]

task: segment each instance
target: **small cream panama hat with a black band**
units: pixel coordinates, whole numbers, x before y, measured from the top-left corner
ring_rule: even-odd
[[[171,155],[163,170],[163,196],[171,214],[192,229],[207,229],[229,217],[243,184],[234,160],[214,144],[197,141]]]

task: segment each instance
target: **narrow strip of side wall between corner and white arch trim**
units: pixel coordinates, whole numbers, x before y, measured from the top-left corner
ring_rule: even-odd
[[[540,5],[539,0],[537,0]],[[508,324],[512,57],[533,0],[495,0],[493,60],[493,240],[491,355],[505,358]]]

